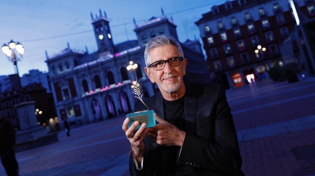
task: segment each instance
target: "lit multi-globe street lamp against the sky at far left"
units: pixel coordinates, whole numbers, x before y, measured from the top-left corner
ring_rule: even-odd
[[[8,45],[5,43],[2,46],[2,52],[7,56],[8,60],[16,67],[16,73],[19,75],[17,62],[23,59],[24,48],[20,42],[15,43],[11,40]]]

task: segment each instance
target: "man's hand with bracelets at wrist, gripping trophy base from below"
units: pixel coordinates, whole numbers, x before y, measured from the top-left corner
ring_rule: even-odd
[[[141,155],[144,152],[145,145],[143,143],[143,139],[149,132],[149,128],[146,128],[146,124],[143,123],[139,130],[134,134],[135,129],[138,127],[139,122],[135,121],[130,128],[128,128],[128,123],[130,119],[127,117],[125,121],[123,121],[123,131],[126,132],[127,139],[129,140],[134,155]],[[142,156],[136,157],[137,163],[140,164],[142,161]]]

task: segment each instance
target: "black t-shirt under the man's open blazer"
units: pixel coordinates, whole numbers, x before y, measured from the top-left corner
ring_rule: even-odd
[[[185,130],[185,96],[173,100],[168,101],[163,98],[163,106],[164,106],[164,117],[165,121],[175,125],[182,131]],[[179,155],[180,147],[179,146],[161,146],[161,150],[166,150],[169,155],[168,162],[169,168],[171,168],[171,172],[169,175],[192,175],[193,170],[192,167],[186,165],[180,165],[177,163],[177,156]]]

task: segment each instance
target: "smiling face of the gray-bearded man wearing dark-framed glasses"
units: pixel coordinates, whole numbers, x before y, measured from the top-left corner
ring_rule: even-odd
[[[179,57],[178,50],[174,45],[153,48],[150,52],[149,64],[159,60],[167,60],[173,57]],[[153,70],[145,67],[146,74],[152,83],[156,82],[160,91],[176,92],[183,84],[183,76],[186,74],[187,59],[184,59],[178,66],[165,64],[163,70]]]

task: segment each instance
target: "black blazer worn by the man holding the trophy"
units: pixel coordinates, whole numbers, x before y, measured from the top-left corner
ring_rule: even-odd
[[[186,82],[185,127],[186,136],[178,158],[179,164],[192,167],[191,175],[244,175],[242,158],[225,90],[220,84]],[[159,92],[145,101],[150,110],[164,119],[163,97]],[[140,103],[135,111],[146,107]],[[146,136],[143,168],[135,169],[130,155],[131,175],[169,175],[171,168],[165,146]]]

